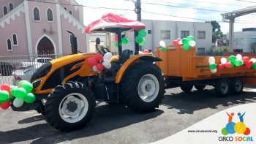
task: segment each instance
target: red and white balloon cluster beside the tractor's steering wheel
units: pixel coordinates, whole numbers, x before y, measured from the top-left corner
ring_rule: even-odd
[[[112,53],[110,52],[105,53],[104,56],[102,56],[102,54],[100,53],[96,53],[95,56],[88,58],[88,64],[92,66],[92,69],[94,70],[94,72],[101,72],[104,69],[104,67],[106,69],[111,68],[112,66],[110,63],[111,58],[112,58]]]

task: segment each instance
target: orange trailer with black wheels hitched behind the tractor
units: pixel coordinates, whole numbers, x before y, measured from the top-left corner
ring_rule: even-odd
[[[256,85],[256,69],[233,67],[232,69],[218,70],[212,73],[209,68],[210,56],[196,56],[195,48],[185,51],[180,45],[167,46],[167,52],[156,48],[156,56],[162,58],[157,66],[162,69],[167,88],[181,87],[184,92],[191,91],[195,86],[203,90],[206,85],[214,86],[217,96],[227,94],[241,94],[244,84]],[[219,65],[222,56],[214,56]],[[228,57],[226,57],[228,59]]]

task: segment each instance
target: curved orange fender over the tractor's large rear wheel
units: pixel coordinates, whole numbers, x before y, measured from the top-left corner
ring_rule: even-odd
[[[154,62],[154,61],[162,61],[161,58],[158,58],[154,56],[151,53],[143,53],[143,54],[138,54],[136,56],[132,56],[132,58],[129,58],[127,61],[124,62],[123,66],[118,70],[116,77],[115,77],[115,83],[120,83],[121,78],[124,75],[124,72],[131,66],[135,61],[149,61],[149,62]]]

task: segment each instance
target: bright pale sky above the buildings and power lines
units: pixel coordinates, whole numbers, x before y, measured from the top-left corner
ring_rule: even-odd
[[[126,18],[136,20],[135,4],[132,0],[76,0],[83,7],[84,24],[88,26],[93,20],[102,15],[113,12],[124,15]],[[189,22],[205,22],[217,20],[223,34],[229,30],[229,23],[222,20],[222,13],[256,7],[256,0],[141,0],[142,19],[148,20],[173,20]],[[104,9],[99,7],[107,7]],[[111,10],[121,9],[121,10]],[[157,14],[152,14],[154,12]],[[161,14],[161,15],[158,15]],[[162,15],[164,14],[164,15]],[[234,31],[243,28],[256,27],[256,13],[244,15],[235,19]]]

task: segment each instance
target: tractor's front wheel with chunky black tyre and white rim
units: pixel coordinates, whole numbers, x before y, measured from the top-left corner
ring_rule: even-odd
[[[79,82],[67,82],[57,86],[45,103],[45,115],[50,125],[65,132],[86,126],[94,109],[93,92]]]

